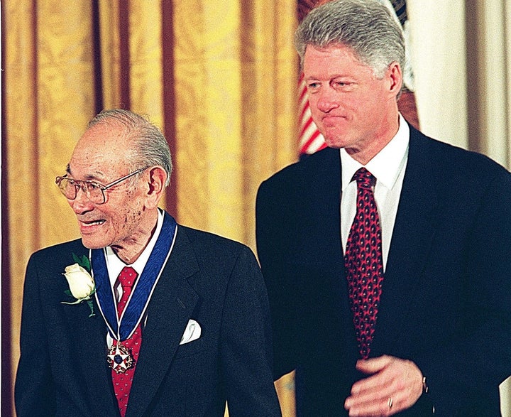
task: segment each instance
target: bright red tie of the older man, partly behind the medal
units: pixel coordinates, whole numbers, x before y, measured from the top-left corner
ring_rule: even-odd
[[[135,284],[136,278],[138,274],[136,271],[131,268],[131,266],[125,266],[119,274],[117,280],[121,284],[123,293],[121,299],[117,303],[117,314],[121,317],[121,313],[126,306],[128,298],[131,294],[131,289]],[[114,340],[114,345],[116,345],[116,340]],[[124,346],[131,350],[131,355],[133,356],[135,365],[138,360],[138,352],[140,352],[140,347],[142,343],[142,329],[141,325],[139,325],[133,335],[126,340],[121,342]],[[112,369],[111,376],[112,382],[114,383],[114,392],[116,395],[117,403],[119,404],[119,411],[121,412],[121,416],[126,416],[126,408],[128,406],[129,393],[131,390],[131,382],[133,381],[133,374],[135,374],[135,367],[130,369],[126,369],[126,372],[118,374]]]

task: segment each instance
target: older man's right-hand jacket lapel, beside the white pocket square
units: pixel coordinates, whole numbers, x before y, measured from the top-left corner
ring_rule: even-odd
[[[148,408],[179,347],[183,330],[199,296],[187,278],[199,271],[194,252],[182,230],[163,269],[148,306],[148,320],[128,404],[128,416],[141,416]]]

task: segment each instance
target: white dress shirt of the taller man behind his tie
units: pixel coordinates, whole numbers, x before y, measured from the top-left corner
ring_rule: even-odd
[[[410,143],[410,127],[400,114],[399,129],[392,140],[366,165],[366,169],[376,178],[373,187],[380,227],[382,231],[383,270],[387,265],[390,239],[394,229],[397,205],[399,205],[402,181],[408,161],[408,145]],[[363,165],[348,155],[344,148],[341,151],[341,241],[346,252],[346,243],[351,224],[356,215],[356,181],[353,174]]]

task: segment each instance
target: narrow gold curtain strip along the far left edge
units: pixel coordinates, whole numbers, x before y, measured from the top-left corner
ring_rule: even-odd
[[[2,50],[4,56],[4,115],[2,121],[10,126],[12,132],[9,136],[11,143],[23,143],[22,146],[9,146],[6,143],[6,126],[2,129],[2,156],[5,161],[2,167],[2,238],[9,221],[16,224],[16,229],[9,227],[9,242],[3,240],[2,248],[8,252],[2,253],[2,287],[12,288],[9,291],[9,300],[3,299],[2,304],[9,303],[9,308],[2,309],[7,312],[10,328],[2,331],[2,363],[6,365],[11,374],[18,364],[18,340],[20,331],[19,313],[21,312],[21,288],[25,274],[26,261],[39,242],[38,222],[26,222],[26,219],[38,218],[38,175],[37,175],[37,106],[33,102],[36,90],[35,72],[35,43],[36,21],[34,5],[31,1],[20,1],[18,4],[3,4],[2,27],[4,33],[17,33],[16,37],[4,35]],[[26,23],[28,22],[28,25]],[[27,27],[28,26],[28,27]],[[16,85],[15,89],[6,88]],[[28,140],[30,139],[30,140]],[[32,169],[26,169],[31,167]],[[12,196],[6,200],[6,195]],[[25,201],[31,201],[26,204]],[[8,217],[9,216],[9,217]],[[7,259],[6,259],[7,257]],[[4,274],[6,265],[9,265],[9,277]],[[17,287],[17,288],[16,288]],[[2,296],[4,296],[2,291]],[[2,315],[5,318],[5,315]],[[2,320],[2,324],[4,321]],[[13,342],[5,342],[12,340]],[[11,378],[2,374],[2,382],[11,384]],[[12,405],[11,396],[6,396],[2,390],[2,404],[7,404],[9,413]],[[2,406],[4,411],[4,406]]]

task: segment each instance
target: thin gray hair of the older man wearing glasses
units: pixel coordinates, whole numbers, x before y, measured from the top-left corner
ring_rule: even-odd
[[[89,121],[87,129],[97,124],[115,123],[123,126],[128,139],[133,141],[134,154],[128,158],[126,164],[135,170],[138,168],[149,168],[150,166],[161,166],[167,173],[165,187],[170,183],[172,173],[172,157],[170,149],[158,126],[151,123],[149,119],[140,114],[125,109],[103,110],[94,119]]]

